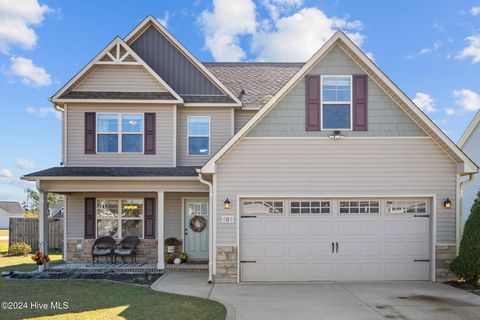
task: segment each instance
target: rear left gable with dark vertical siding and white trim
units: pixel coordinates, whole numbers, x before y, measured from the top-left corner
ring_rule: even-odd
[[[199,62],[152,16],[145,18],[125,37],[125,42],[172,88],[185,104],[201,103],[189,96],[226,96],[223,104],[241,106],[240,100]],[[189,102],[193,100],[194,102]],[[212,101],[217,103],[216,100]]]

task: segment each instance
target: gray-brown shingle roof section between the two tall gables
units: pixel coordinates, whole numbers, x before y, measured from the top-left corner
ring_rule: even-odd
[[[288,62],[204,62],[244,107],[260,108],[280,90],[304,63]],[[241,91],[245,94],[241,95]]]

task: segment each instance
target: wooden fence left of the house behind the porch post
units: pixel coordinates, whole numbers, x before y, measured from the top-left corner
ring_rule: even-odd
[[[48,220],[48,249],[63,249],[63,219]],[[26,242],[32,250],[38,250],[38,219],[10,218],[8,245],[15,242]]]

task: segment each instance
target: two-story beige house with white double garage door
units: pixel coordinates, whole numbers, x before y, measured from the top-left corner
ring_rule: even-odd
[[[456,255],[477,166],[342,32],[306,63],[201,63],[148,17],[51,101],[64,166],[23,179],[66,195],[68,262],[103,235],[159,269],[179,238],[219,282],[435,280]]]

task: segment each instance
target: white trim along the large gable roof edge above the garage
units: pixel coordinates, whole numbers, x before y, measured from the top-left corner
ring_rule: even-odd
[[[343,32],[337,31],[292,77],[276,94],[260,109],[207,163],[202,167],[202,173],[214,173],[216,163],[240,139],[248,134],[252,128],[263,119],[272,108],[307,75],[318,62],[325,57],[334,46],[340,46],[350,58],[380,87],[384,92],[422,129],[432,137],[440,149],[445,152],[455,163],[460,174],[474,173],[478,167],[471,161],[446,134],[438,128]]]

